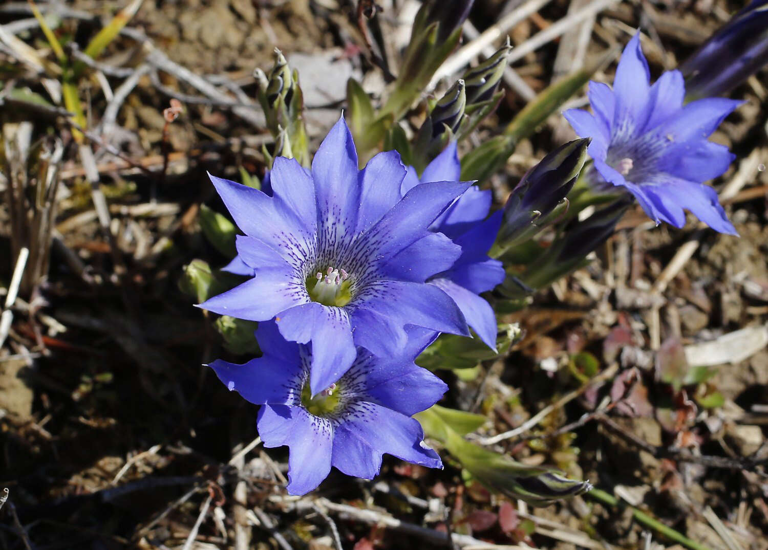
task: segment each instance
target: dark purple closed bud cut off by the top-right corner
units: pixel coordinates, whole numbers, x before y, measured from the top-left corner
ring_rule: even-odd
[[[680,65],[687,99],[733,90],[768,64],[768,0],[752,0]]]

